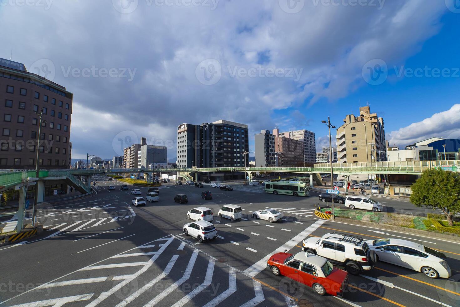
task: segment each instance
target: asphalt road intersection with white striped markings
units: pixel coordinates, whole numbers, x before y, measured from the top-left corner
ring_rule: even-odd
[[[98,194],[45,205],[46,231],[28,242],[0,248],[0,306],[459,306],[460,244],[318,220],[318,198],[261,193],[258,186],[220,191],[163,184],[160,201],[132,207],[121,183],[98,178]],[[108,191],[108,185],[115,191]],[[143,196],[147,189],[141,189]],[[203,190],[213,192],[204,201]],[[189,203],[173,202],[183,193]],[[315,193],[312,193],[315,194]],[[383,202],[382,202],[383,203]],[[244,219],[217,216],[223,204],[242,206]],[[207,243],[184,236],[188,210],[213,209],[218,238]],[[251,212],[277,208],[285,219],[270,224]],[[379,262],[365,276],[351,276],[343,299],[271,274],[266,259],[276,251],[301,251],[307,236],[346,232],[364,239],[407,238],[442,250],[453,269],[449,280]],[[312,305],[309,305],[312,304]]]

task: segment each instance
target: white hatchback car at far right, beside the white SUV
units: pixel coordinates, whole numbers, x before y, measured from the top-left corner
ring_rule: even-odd
[[[422,244],[400,239],[368,240],[366,243],[375,251],[376,261],[407,267],[431,278],[452,275],[446,255]]]

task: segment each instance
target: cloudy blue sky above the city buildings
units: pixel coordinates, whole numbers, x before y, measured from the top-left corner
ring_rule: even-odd
[[[181,1],[2,2],[0,57],[12,49],[30,71],[46,64],[74,93],[73,158],[121,155],[119,139],[141,137],[174,158],[181,123],[219,119],[247,124],[251,151],[253,134],[276,126],[323,144],[322,120],[340,126],[367,102],[391,144],[460,138],[459,72],[397,76],[460,67],[450,0]]]

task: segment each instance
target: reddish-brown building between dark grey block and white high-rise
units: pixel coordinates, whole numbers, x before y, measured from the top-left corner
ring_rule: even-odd
[[[275,151],[282,153],[282,155],[276,154],[277,166],[303,167],[305,164],[303,141],[284,136],[275,137]]]

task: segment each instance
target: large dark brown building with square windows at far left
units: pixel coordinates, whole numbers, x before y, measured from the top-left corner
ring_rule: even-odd
[[[0,168],[35,168],[41,109],[39,167],[69,168],[72,99],[65,87],[0,58]]]

